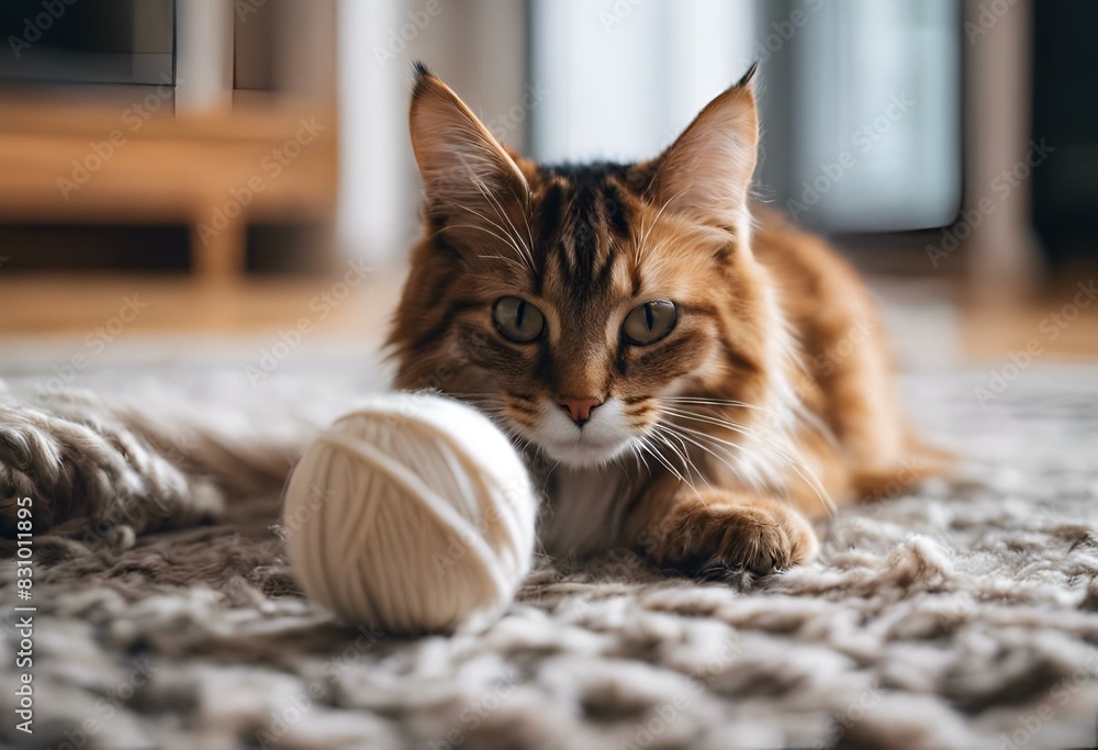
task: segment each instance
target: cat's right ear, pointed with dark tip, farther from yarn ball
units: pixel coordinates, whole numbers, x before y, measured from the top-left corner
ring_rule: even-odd
[[[656,194],[669,211],[717,226],[735,226],[743,215],[759,149],[757,68],[709,102],[658,158]]]

